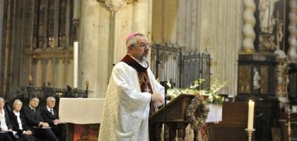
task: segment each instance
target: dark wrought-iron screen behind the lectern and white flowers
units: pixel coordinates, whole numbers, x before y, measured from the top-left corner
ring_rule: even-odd
[[[205,51],[183,51],[174,43],[151,45],[151,70],[161,81],[170,81],[175,87],[185,87],[193,80],[204,79],[202,87],[210,83],[210,54]]]

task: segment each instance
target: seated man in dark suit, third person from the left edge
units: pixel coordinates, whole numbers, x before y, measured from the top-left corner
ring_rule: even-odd
[[[25,121],[28,123],[28,126],[32,128],[35,137],[57,141],[58,138],[54,135],[52,129],[50,129],[50,125],[43,120],[39,109],[37,109],[39,102],[38,97],[32,97],[29,105],[22,109],[25,115]]]

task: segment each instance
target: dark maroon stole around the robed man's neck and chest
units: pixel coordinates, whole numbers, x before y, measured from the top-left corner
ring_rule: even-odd
[[[129,55],[124,56],[124,58],[121,61],[124,63],[127,63],[129,66],[132,66],[132,68],[136,69],[141,92],[149,92],[153,94],[151,82],[149,81],[149,78],[148,78],[148,72],[147,72],[148,67],[144,68]],[[146,64],[148,64],[148,62],[146,62]],[[153,103],[151,102],[150,115],[153,114],[153,112],[155,112],[155,109],[153,108]]]

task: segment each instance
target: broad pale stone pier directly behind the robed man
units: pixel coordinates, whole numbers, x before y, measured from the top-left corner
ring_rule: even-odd
[[[90,97],[105,97],[112,66],[126,54],[129,32],[151,32],[151,1],[82,1],[78,85],[90,82]],[[96,4],[97,3],[97,4]],[[92,6],[94,11],[91,11]],[[96,10],[96,11],[95,11]]]

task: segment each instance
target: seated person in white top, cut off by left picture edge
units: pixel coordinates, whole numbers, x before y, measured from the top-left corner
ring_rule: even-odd
[[[11,121],[8,112],[4,109],[4,98],[0,97],[0,141],[13,141]]]

